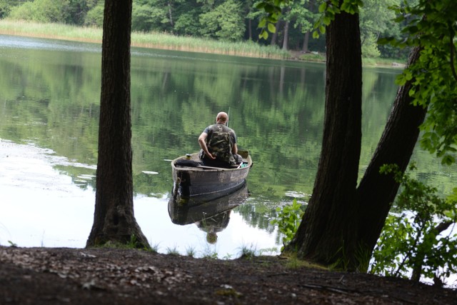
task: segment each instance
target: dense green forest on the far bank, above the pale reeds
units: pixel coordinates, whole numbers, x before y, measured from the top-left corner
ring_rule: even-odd
[[[360,12],[362,52],[365,58],[406,59],[408,50],[380,46],[379,38],[400,38],[401,24],[389,9],[403,0],[363,0]],[[408,0],[413,2],[417,0]],[[291,0],[282,7],[276,31],[259,39],[265,12],[260,1],[241,0],[134,0],[132,31],[166,32],[224,41],[253,41],[283,50],[325,52],[325,36],[313,39],[313,25],[321,14],[321,0]],[[0,19],[101,27],[104,0],[0,0]]]

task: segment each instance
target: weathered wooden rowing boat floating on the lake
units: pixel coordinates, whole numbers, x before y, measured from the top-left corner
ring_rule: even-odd
[[[206,199],[216,199],[240,189],[251,169],[252,159],[248,151],[238,151],[238,154],[243,156],[243,162],[230,169],[203,166],[198,153],[174,159],[171,161],[174,181],[172,197],[204,196]]]

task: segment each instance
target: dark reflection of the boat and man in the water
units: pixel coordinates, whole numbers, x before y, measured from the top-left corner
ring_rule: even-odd
[[[246,198],[246,181],[241,189],[219,198],[204,195],[172,196],[169,201],[169,216],[174,224],[196,224],[201,231],[206,232],[206,241],[214,244],[217,241],[217,233],[226,229],[229,224],[232,209],[242,204]]]

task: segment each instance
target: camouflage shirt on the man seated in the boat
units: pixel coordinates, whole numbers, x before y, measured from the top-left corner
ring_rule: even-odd
[[[209,152],[216,156],[216,159],[229,164],[236,164],[231,153],[233,144],[236,144],[236,134],[233,129],[224,124],[214,124],[206,127],[204,133],[208,134],[206,146],[208,146]]]

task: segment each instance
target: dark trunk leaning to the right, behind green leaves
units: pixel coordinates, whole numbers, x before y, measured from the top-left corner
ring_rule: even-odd
[[[413,49],[408,64],[416,61],[419,53],[418,48]],[[418,139],[419,126],[426,115],[427,109],[411,104],[410,89],[411,81],[398,89],[386,128],[358,186],[360,244],[369,253],[376,246],[399,186],[392,175],[379,174],[379,168],[383,164],[397,164],[405,171]]]

